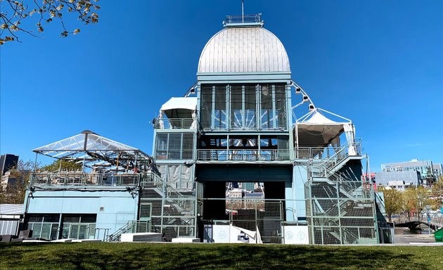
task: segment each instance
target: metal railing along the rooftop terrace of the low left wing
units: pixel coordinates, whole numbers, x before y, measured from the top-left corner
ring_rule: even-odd
[[[98,174],[85,172],[33,172],[31,185],[41,186],[138,186],[152,174]]]

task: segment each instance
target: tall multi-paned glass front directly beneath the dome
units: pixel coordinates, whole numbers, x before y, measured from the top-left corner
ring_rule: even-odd
[[[286,88],[286,84],[203,84],[200,125],[203,129],[288,130]]]

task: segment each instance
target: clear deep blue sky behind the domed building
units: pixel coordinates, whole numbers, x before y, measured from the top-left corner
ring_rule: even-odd
[[[98,24],[66,20],[76,36],[53,22],[44,39],[0,46],[0,152],[34,160],[90,129],[151,153],[149,121],[196,81],[205,43],[240,2],[101,1]],[[373,172],[443,162],[443,1],[245,0],[245,13],[263,14],[317,107],[353,120]]]

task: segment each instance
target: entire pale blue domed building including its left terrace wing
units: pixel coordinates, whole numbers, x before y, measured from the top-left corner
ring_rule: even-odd
[[[34,150],[82,170],[32,175],[28,228],[52,238],[378,243],[354,124],[314,105],[261,15],[227,16],[197,82],[161,106],[153,127],[152,157],[91,131]]]

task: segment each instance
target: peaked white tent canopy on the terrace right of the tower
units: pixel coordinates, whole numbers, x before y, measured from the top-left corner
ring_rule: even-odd
[[[334,115],[342,121],[335,122],[330,120],[324,113]],[[349,139],[354,139],[353,126],[352,121],[345,117],[316,108],[300,117],[295,123],[297,147],[321,148],[328,146],[330,143],[333,146],[339,146],[340,141],[338,138],[344,131],[352,131],[352,135],[349,134]]]

